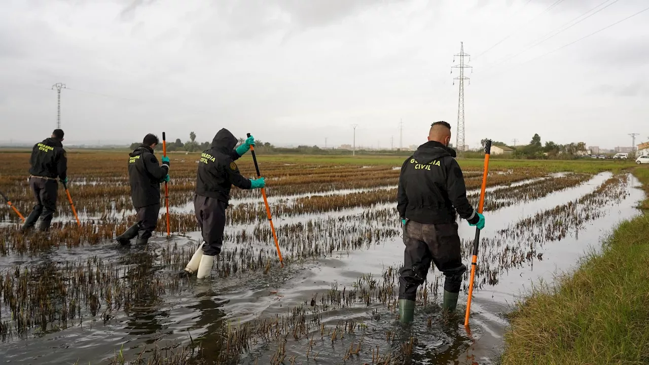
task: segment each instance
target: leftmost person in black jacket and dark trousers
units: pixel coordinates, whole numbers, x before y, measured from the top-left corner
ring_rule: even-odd
[[[61,144],[63,136],[61,129],[55,129],[50,138],[32,148],[29,186],[36,197],[36,205],[21,228],[23,233],[34,227],[38,218],[41,218],[40,231],[48,231],[52,223],[58,189],[56,178],[64,184],[67,183],[67,157]]]

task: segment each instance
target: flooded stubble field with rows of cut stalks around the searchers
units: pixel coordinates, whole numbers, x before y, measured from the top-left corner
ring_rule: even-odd
[[[260,155],[285,267],[260,192],[234,188],[212,279],[178,278],[200,239],[191,205],[197,156],[171,155],[172,236],[162,216],[147,247],[114,242],[134,221],[126,154],[69,153],[81,227],[62,192],[49,235],[17,233],[18,216],[0,210],[3,362],[491,364],[504,315],[520,294],[599,249],[643,197],[620,164],[494,160],[467,332],[467,278],[461,315],[448,318],[434,269],[413,325],[397,321],[400,158],[356,164]],[[28,160],[27,153],[0,153],[0,190],[23,214],[33,204]],[[482,162],[461,166],[476,203]],[[254,175],[249,157],[239,168]],[[474,229],[465,221],[459,227],[469,262]]]

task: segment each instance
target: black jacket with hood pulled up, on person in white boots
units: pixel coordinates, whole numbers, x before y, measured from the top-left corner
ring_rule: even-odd
[[[196,177],[196,194],[214,197],[228,203],[232,185],[241,189],[250,189],[249,179],[241,176],[234,160],[239,154],[235,151],[237,139],[230,131],[223,128],[212,140],[212,147],[201,154],[199,171]]]

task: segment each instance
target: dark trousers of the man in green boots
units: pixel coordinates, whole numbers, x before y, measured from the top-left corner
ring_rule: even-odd
[[[426,281],[430,262],[444,273],[444,290],[459,293],[462,264],[458,223],[423,224],[407,221],[404,227],[404,267],[399,271],[399,299],[417,299],[417,287]]]

